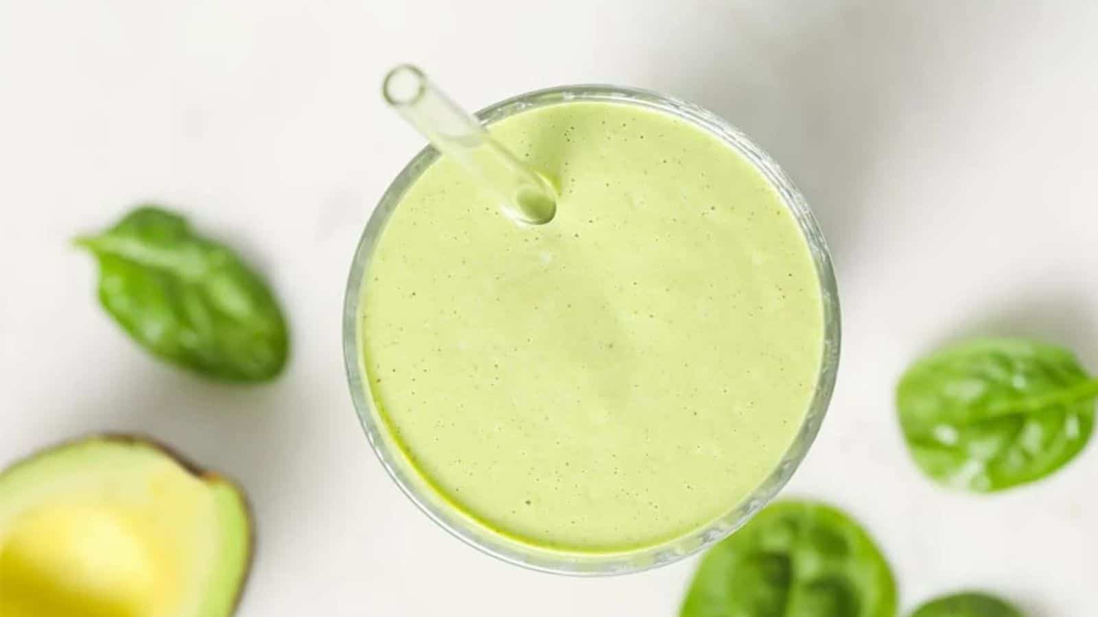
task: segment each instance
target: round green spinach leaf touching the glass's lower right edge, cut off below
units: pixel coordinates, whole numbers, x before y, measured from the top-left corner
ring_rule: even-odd
[[[873,539],[842,512],[778,502],[713,547],[681,617],[894,617],[896,584]]]

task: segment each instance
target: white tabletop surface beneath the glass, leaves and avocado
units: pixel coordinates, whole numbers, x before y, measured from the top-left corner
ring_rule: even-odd
[[[916,355],[1034,335],[1098,369],[1098,3],[0,0],[0,463],[146,431],[238,478],[259,552],[240,615],[670,616],[694,560],[610,580],[497,563],[422,516],[355,418],[340,302],[369,211],[419,139],[379,81],[421,63],[469,106],[565,82],[692,99],[802,186],[845,340],[787,494],[863,520],[903,606],[964,586],[1098,614],[1098,445],[978,498],[908,461]],[[783,7],[784,4],[784,7]],[[150,360],[68,238],[143,200],[191,214],[277,287],[293,361],[269,388]]]

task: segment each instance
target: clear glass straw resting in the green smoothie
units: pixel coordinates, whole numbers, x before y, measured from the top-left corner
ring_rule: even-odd
[[[419,68],[400,65],[382,86],[385,102],[441,154],[452,157],[491,189],[515,218],[533,225],[552,220],[557,190],[492,138],[471,113],[458,106]]]

